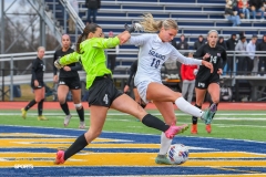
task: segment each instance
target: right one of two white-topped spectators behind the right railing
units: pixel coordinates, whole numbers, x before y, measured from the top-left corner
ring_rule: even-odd
[[[258,58],[255,56],[257,35],[253,35],[246,46],[247,51],[247,71],[253,75],[258,72]]]

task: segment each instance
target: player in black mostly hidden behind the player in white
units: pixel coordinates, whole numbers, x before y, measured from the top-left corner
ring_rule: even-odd
[[[130,69],[131,73],[130,73],[130,76],[127,79],[126,85],[124,86],[124,93],[130,90],[131,80],[132,80],[132,77],[135,76],[136,70],[137,70],[137,60],[135,60],[131,64],[131,69]],[[134,93],[136,103],[139,103],[143,108],[145,108],[146,107],[146,103],[142,101],[142,98],[141,98],[141,96],[140,96],[140,94],[139,94],[139,92],[136,90],[135,84],[133,86],[133,93]]]

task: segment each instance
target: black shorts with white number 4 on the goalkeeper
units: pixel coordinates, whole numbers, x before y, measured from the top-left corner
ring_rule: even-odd
[[[113,101],[122,94],[113,84],[110,75],[98,76],[89,88],[89,106],[110,107]]]

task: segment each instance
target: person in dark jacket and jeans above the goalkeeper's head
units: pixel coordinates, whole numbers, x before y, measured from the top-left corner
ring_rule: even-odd
[[[85,7],[88,8],[88,23],[96,23],[98,9],[101,8],[101,0],[86,0]],[[92,21],[91,21],[92,15]]]

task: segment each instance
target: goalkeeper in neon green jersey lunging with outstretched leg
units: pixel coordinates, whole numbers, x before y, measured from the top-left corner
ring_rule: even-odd
[[[137,25],[129,27],[115,38],[103,39],[102,28],[90,23],[78,40],[76,51],[54,62],[59,69],[78,61],[82,63],[86,72],[88,102],[91,112],[89,131],[78,137],[65,152],[59,150],[55,164],[63,164],[101,134],[109,108],[135,116],[144,125],[164,132],[167,138],[173,138],[187,128],[187,125],[166,125],[160,118],[147,114],[133,98],[123,94],[113,84],[112,73],[105,65],[104,49],[125,43]]]

